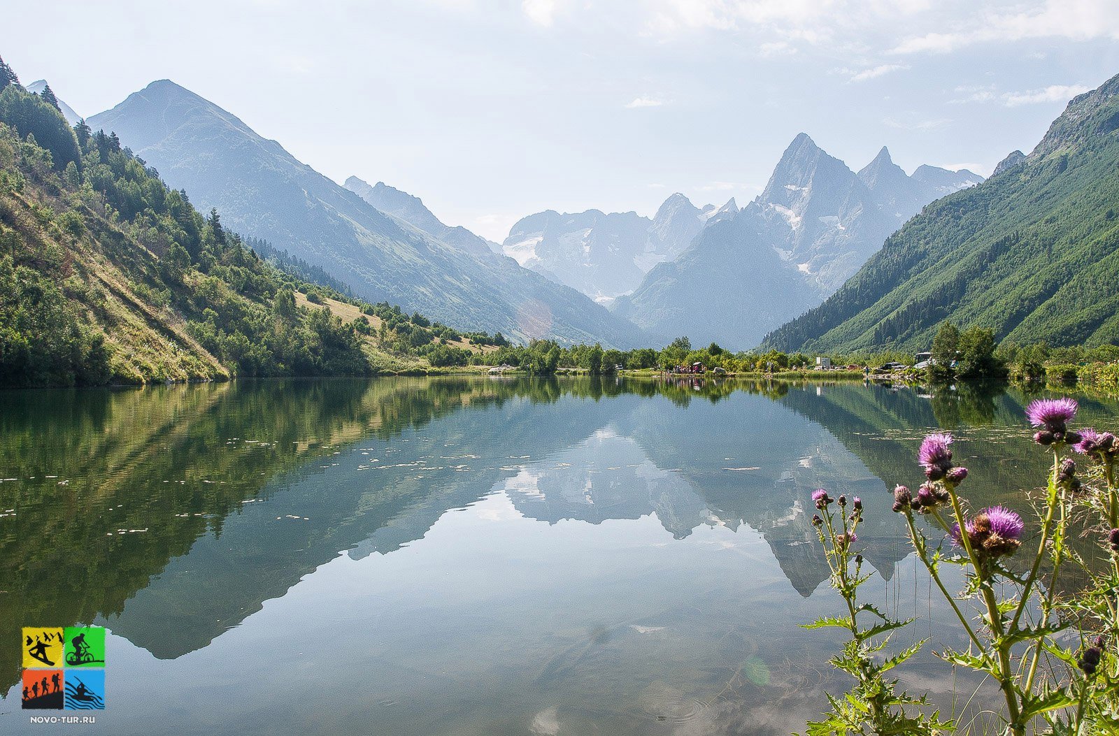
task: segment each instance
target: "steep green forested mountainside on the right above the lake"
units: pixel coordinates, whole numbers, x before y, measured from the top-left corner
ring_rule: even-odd
[[[924,208],[780,350],[924,350],[952,320],[1054,346],[1119,340],[1119,77],[1069,103],[1033,153]]]

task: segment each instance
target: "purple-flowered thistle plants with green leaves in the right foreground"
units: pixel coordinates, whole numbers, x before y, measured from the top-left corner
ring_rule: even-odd
[[[1037,521],[1024,520],[1002,506],[978,509],[965,496],[968,472],[953,464],[951,435],[929,435],[919,460],[928,482],[918,491],[904,485],[894,490],[893,510],[904,517],[910,544],[934,584],[938,605],[959,622],[967,649],[946,645],[937,652],[946,662],[989,677],[998,685],[999,704],[988,706],[999,718],[1000,733],[1087,735],[1119,733],[1119,485],[1116,460],[1119,441],[1110,433],[1068,426],[1076,413],[1075,402],[1044,399],[1026,409],[1042,426],[1035,442],[1050,452],[1052,471],[1042,498],[1036,500]],[[1079,453],[1074,462],[1070,450]],[[1024,481],[1029,483],[1029,481]],[[928,715],[927,697],[895,696],[896,680],[883,677],[886,666],[901,664],[924,642],[884,661],[875,657],[884,640],[869,643],[910,622],[877,614],[881,623],[861,629],[856,614],[859,585],[873,577],[861,575],[862,556],[853,528],[862,516],[861,503],[846,517],[845,499],[837,511],[824,491],[817,491],[814,519],[831,566],[831,586],[846,605],[846,615],[821,619],[816,624],[841,626],[850,638],[844,652],[833,659],[836,667],[856,679],[845,696],[828,695],[830,713],[809,725],[809,734],[910,734],[947,733],[953,724],[939,724]],[[878,502],[882,502],[881,500]],[[838,515],[843,532],[837,530]],[[918,518],[933,522],[928,534]],[[850,525],[850,527],[848,527]],[[850,532],[848,534],[848,529]],[[1091,539],[1092,556],[1072,546],[1076,536]],[[854,560],[852,559],[854,556]],[[1012,565],[1017,557],[1022,565]],[[854,562],[854,572],[852,572]],[[941,574],[946,564],[965,573],[963,589],[950,592]],[[1022,566],[1028,572],[1021,572]],[[1073,592],[1066,595],[1064,586]],[[874,613],[876,611],[872,607]],[[922,723],[924,718],[929,723]],[[900,727],[902,721],[908,723]],[[976,733],[960,726],[957,733]],[[988,733],[988,732],[980,732]]]

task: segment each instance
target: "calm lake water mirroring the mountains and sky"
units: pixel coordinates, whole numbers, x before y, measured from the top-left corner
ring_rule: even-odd
[[[962,644],[887,488],[948,427],[972,501],[1026,510],[1046,464],[1026,400],[488,378],[0,393],[0,730],[43,729],[20,626],[75,623],[110,630],[107,709],[75,733],[802,729],[849,685],[840,640],[798,626],[841,605],[812,490],[863,498],[868,595],[918,619],[897,643]],[[900,676],[965,719],[994,702],[928,651]]]

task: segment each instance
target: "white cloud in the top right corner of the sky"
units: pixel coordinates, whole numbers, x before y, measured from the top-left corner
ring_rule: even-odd
[[[903,40],[895,54],[944,54],[982,43],[1032,38],[1119,39],[1119,2],[1115,0],[1044,0],[1013,10],[978,10],[948,31],[932,31]]]

